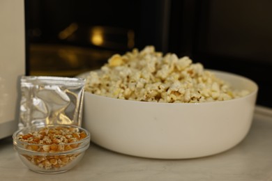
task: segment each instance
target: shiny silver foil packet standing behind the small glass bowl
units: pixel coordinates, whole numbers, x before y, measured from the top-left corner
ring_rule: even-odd
[[[19,128],[31,125],[82,124],[85,79],[21,77]]]

